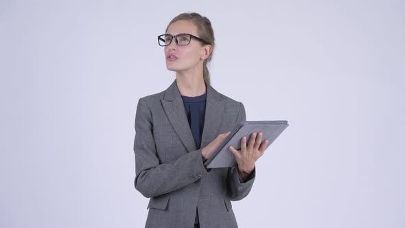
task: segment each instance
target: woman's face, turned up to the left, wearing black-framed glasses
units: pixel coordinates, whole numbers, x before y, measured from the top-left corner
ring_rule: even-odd
[[[198,36],[197,27],[192,21],[176,21],[168,28],[166,34],[175,36],[180,33],[192,34]],[[180,46],[176,44],[173,39],[170,45],[165,46],[166,67],[170,71],[189,71],[192,69],[203,69],[203,59],[207,58],[207,50],[209,52],[209,45],[203,45],[200,41],[192,38],[189,45]],[[209,54],[209,53],[208,53]]]

